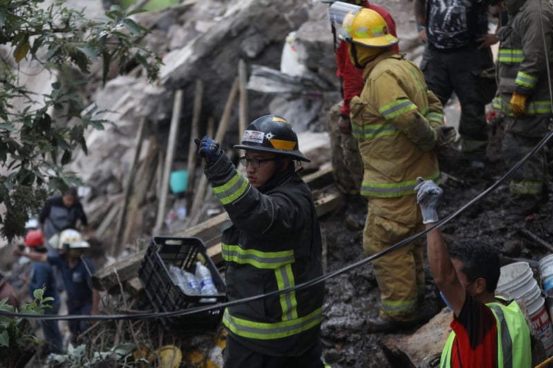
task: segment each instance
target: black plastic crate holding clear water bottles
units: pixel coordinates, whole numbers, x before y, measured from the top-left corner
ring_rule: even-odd
[[[171,264],[194,273],[198,261],[211,271],[213,283],[219,292],[217,296],[189,296],[169,276]],[[152,238],[138,269],[138,278],[157,312],[180,311],[225,302],[225,282],[199,238]],[[160,319],[167,330],[188,332],[216,329],[222,317],[223,309],[214,309],[189,316]]]

